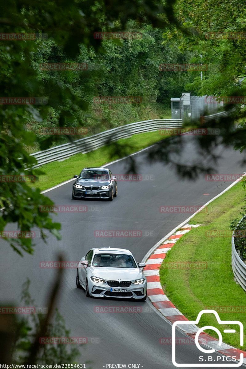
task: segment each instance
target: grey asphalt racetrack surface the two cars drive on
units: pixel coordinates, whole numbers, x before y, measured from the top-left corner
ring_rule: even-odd
[[[206,162],[197,152],[194,140],[184,137],[182,162],[193,160]],[[232,148],[219,147],[222,157],[215,166],[216,172],[243,173],[240,166],[242,154]],[[160,206],[202,206],[232,182],[208,182],[204,175],[195,181],[180,179],[169,165],[146,161],[147,151],[136,154],[139,182],[118,182],[118,197],[113,202],[71,200],[72,182],[60,186],[46,196],[56,205],[86,205],[84,213],[59,213],[54,216],[62,224],[62,241],[49,237],[45,244],[36,237],[33,256],[18,256],[6,242],[0,247],[1,301],[19,304],[21,285],[31,279],[31,294],[37,305],[45,305],[55,270],[40,268],[42,261],[54,261],[58,251],[63,251],[67,261],[79,261],[86,252],[97,246],[128,248],[138,262],[146,252],[188,218],[192,213],[160,213]],[[78,168],[77,173],[81,168]],[[124,174],[126,161],[110,165],[112,173]],[[11,225],[8,230],[13,227]],[[141,237],[95,237],[96,230],[140,230]],[[171,362],[171,345],[160,344],[161,338],[171,338],[171,325],[165,321],[150,303],[126,300],[100,300],[86,298],[84,291],[75,287],[76,269],[66,269],[59,295],[58,307],[65,317],[72,336],[88,337],[89,343],[81,348],[80,363],[91,360],[95,369],[107,364],[137,364],[139,368],[174,368]],[[97,313],[98,306],[141,307],[138,313]],[[179,337],[184,337],[180,333]],[[96,343],[94,343],[96,342]],[[194,345],[180,345],[177,361],[197,362]],[[138,368],[138,366],[136,366]],[[89,365],[87,365],[89,368]]]

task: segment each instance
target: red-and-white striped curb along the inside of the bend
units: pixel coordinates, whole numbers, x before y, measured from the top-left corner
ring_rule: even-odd
[[[166,258],[167,252],[173,247],[174,244],[186,233],[188,233],[192,228],[199,227],[200,224],[185,224],[179,231],[174,234],[169,235],[169,237],[163,241],[163,239],[156,245],[155,250],[152,250],[152,254],[148,257],[145,264],[146,267],[143,270],[143,274],[147,280],[148,297],[153,304],[153,306],[173,324],[178,320],[188,319],[174,306],[174,304],[169,300],[169,298],[164,294],[162,285],[160,284],[159,269]],[[180,324],[179,328],[189,337],[195,339],[195,334],[199,330],[195,324]],[[237,360],[240,359],[240,353],[243,353],[244,360],[246,364],[246,352],[234,348],[233,346],[227,345],[224,342],[222,345],[218,345],[219,340],[208,334],[202,332],[200,336],[202,342],[206,342],[205,345],[208,348],[214,349],[225,356],[235,356]]]

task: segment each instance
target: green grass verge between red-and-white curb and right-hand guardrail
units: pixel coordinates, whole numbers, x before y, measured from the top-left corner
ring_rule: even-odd
[[[239,212],[245,200],[245,190],[239,182],[228,192],[207,206],[207,211],[195,215],[190,224],[201,224],[185,234],[167,253],[160,268],[163,290],[172,303],[189,320],[195,320],[198,313],[211,308],[216,310],[222,320],[239,320],[246,327],[246,292],[234,281],[231,267],[230,223],[241,218]],[[211,231],[228,231],[224,237],[212,237]],[[204,269],[170,269],[167,262],[201,261],[207,262]],[[166,267],[165,267],[166,264]],[[242,307],[242,312],[232,311]],[[216,307],[216,308],[215,308]],[[226,312],[224,311],[226,309]],[[231,308],[232,312],[228,312]],[[235,310],[235,308],[234,308]],[[224,333],[225,328],[216,323],[213,314],[202,315],[199,327],[217,327],[223,341],[239,346],[238,327],[232,325],[237,333]],[[214,331],[206,331],[217,337]],[[246,349],[246,335],[244,336]]]

